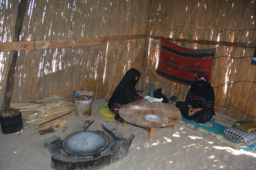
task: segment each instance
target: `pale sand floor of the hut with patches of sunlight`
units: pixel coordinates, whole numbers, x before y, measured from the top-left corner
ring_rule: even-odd
[[[103,130],[101,124],[105,118],[98,113],[99,106],[107,102],[102,99],[93,101],[92,115],[86,118],[72,116],[55,132],[40,135],[36,126],[24,128],[22,132],[3,134],[0,132],[0,169],[51,169],[51,154],[43,148],[44,141],[53,135],[61,140],[75,131],[82,130],[85,121],[94,121],[87,130]],[[135,135],[128,155],[115,164],[101,168],[113,169],[256,169],[256,152],[239,151],[226,146],[218,140],[187,126],[177,124],[158,129],[153,141],[148,141],[148,132],[142,128],[110,122],[121,130],[126,138]],[[26,127],[26,126],[25,126]]]

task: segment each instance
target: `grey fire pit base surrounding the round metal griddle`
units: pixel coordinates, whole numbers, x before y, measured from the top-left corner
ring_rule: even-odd
[[[51,168],[57,170],[100,169],[125,158],[134,135],[131,134],[131,137],[126,139],[125,135],[115,129],[109,122],[103,123],[102,128],[109,137],[108,147],[102,152],[91,156],[69,155],[63,150],[63,141],[60,140],[60,137],[54,135],[47,139],[44,142],[44,148],[47,148],[52,155]],[[104,131],[99,132],[105,133]]]

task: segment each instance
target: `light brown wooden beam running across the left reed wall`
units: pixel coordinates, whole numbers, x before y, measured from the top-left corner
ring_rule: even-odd
[[[106,41],[119,41],[119,40],[142,39],[142,38],[145,38],[145,35],[117,36],[117,37],[106,37],[106,38],[15,41],[10,43],[0,43],[0,52],[17,52],[17,51],[25,51],[25,50],[38,50],[38,49],[50,49],[50,48],[98,46],[98,45],[105,45]]]

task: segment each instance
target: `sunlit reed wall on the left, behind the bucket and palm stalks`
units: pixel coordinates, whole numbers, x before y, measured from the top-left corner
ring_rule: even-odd
[[[21,41],[113,37],[146,31],[146,1],[36,0],[28,1],[27,8]],[[138,39],[20,52],[12,102],[26,103],[50,95],[71,99],[79,88],[92,90],[94,100],[104,98],[111,95],[124,72],[132,67],[141,70],[144,48],[145,40]]]

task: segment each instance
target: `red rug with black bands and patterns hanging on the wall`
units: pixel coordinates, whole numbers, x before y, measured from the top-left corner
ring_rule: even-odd
[[[211,81],[211,68],[216,48],[188,49],[161,38],[157,74],[167,80],[191,86],[200,72]]]

